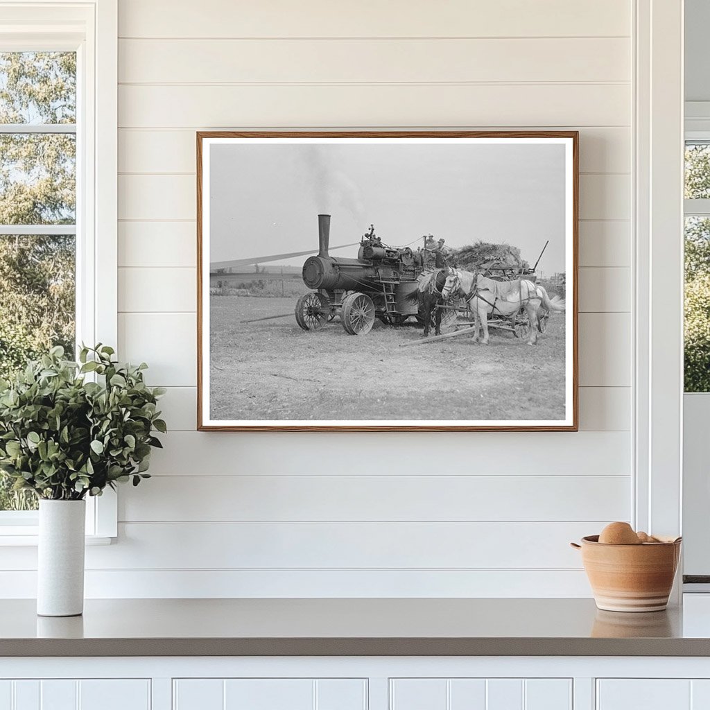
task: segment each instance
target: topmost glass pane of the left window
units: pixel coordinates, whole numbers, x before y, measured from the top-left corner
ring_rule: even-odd
[[[0,124],[75,124],[74,52],[0,52]]]

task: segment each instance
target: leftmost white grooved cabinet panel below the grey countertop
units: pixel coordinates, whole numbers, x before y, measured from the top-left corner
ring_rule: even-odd
[[[0,681],[0,710],[149,710],[148,679]]]

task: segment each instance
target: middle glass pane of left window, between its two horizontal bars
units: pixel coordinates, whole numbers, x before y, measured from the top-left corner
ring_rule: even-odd
[[[74,224],[76,136],[0,134],[0,224]]]

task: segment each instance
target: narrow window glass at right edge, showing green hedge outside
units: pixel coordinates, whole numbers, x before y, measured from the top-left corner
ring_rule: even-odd
[[[686,392],[710,392],[710,141],[685,147]]]

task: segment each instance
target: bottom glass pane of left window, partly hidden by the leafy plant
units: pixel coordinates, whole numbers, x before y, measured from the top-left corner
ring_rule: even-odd
[[[75,237],[0,235],[0,377],[53,345],[74,356]],[[0,510],[34,510],[0,475]]]

